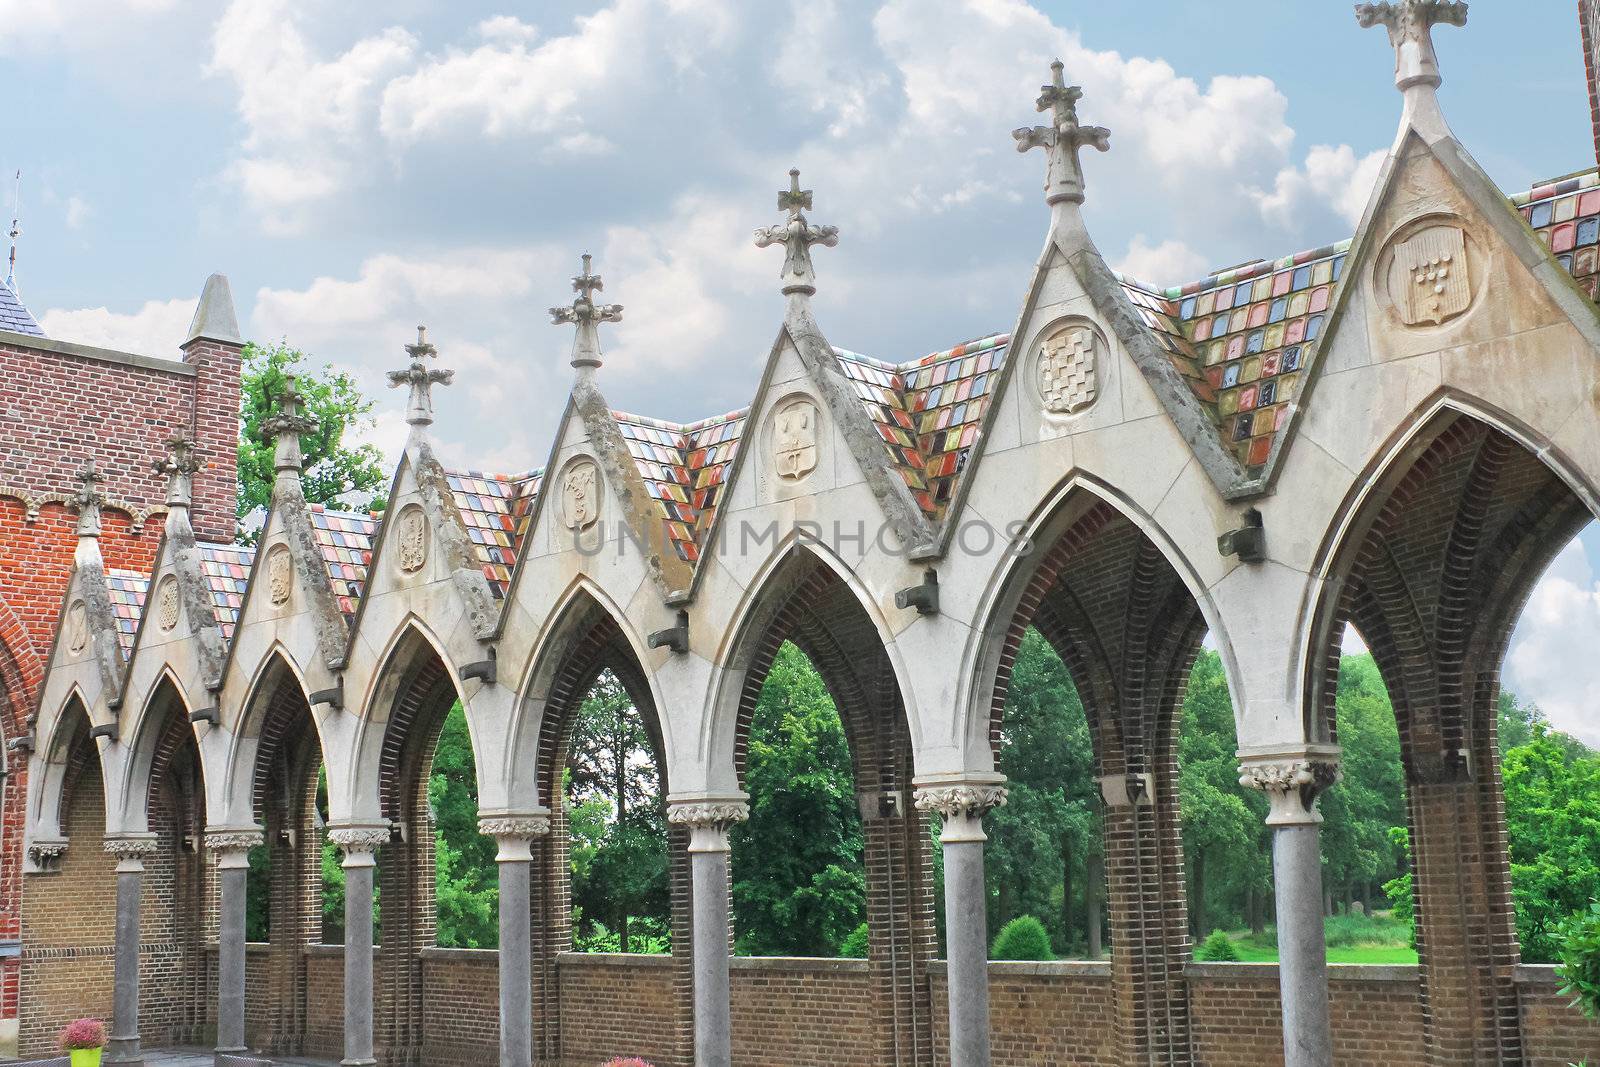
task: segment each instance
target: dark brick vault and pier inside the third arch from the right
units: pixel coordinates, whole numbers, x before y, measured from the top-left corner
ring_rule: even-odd
[[[877,1062],[931,1064],[926,965],[938,952],[926,817],[912,808],[912,744],[896,664],[848,582],[795,547],[752,600],[734,643],[734,773],[742,781],[755,702],[778,649],[792,641],[827,686],[850,747],[862,811],[867,966]]]

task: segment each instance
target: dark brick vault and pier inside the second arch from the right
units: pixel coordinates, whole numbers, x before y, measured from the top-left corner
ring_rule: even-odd
[[[1011,667],[1035,627],[1078,689],[1102,781],[1120,1056],[1189,1064],[1178,712],[1206,621],[1171,558],[1130,515],[1086,493],[1056,509],[1040,523],[1034,560],[1010,579],[989,744],[998,758]]]

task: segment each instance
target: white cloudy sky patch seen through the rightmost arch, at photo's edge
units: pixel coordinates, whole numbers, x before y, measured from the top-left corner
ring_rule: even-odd
[[[1595,528],[1590,526],[1590,536]],[[1600,547],[1600,544],[1597,544]],[[1566,733],[1600,745],[1600,557],[1566,545],[1534,587],[1506,656],[1506,685]]]

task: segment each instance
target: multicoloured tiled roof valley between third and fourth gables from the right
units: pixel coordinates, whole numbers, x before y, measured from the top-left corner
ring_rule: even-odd
[[[699,560],[749,410],[741,410],[699,422],[667,422],[611,413],[680,560]]]

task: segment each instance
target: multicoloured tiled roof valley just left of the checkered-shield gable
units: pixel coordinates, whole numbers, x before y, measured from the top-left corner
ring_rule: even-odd
[[[834,349],[917,506],[941,518],[966,469],[1005,365],[1010,334],[992,334],[909,363]]]

